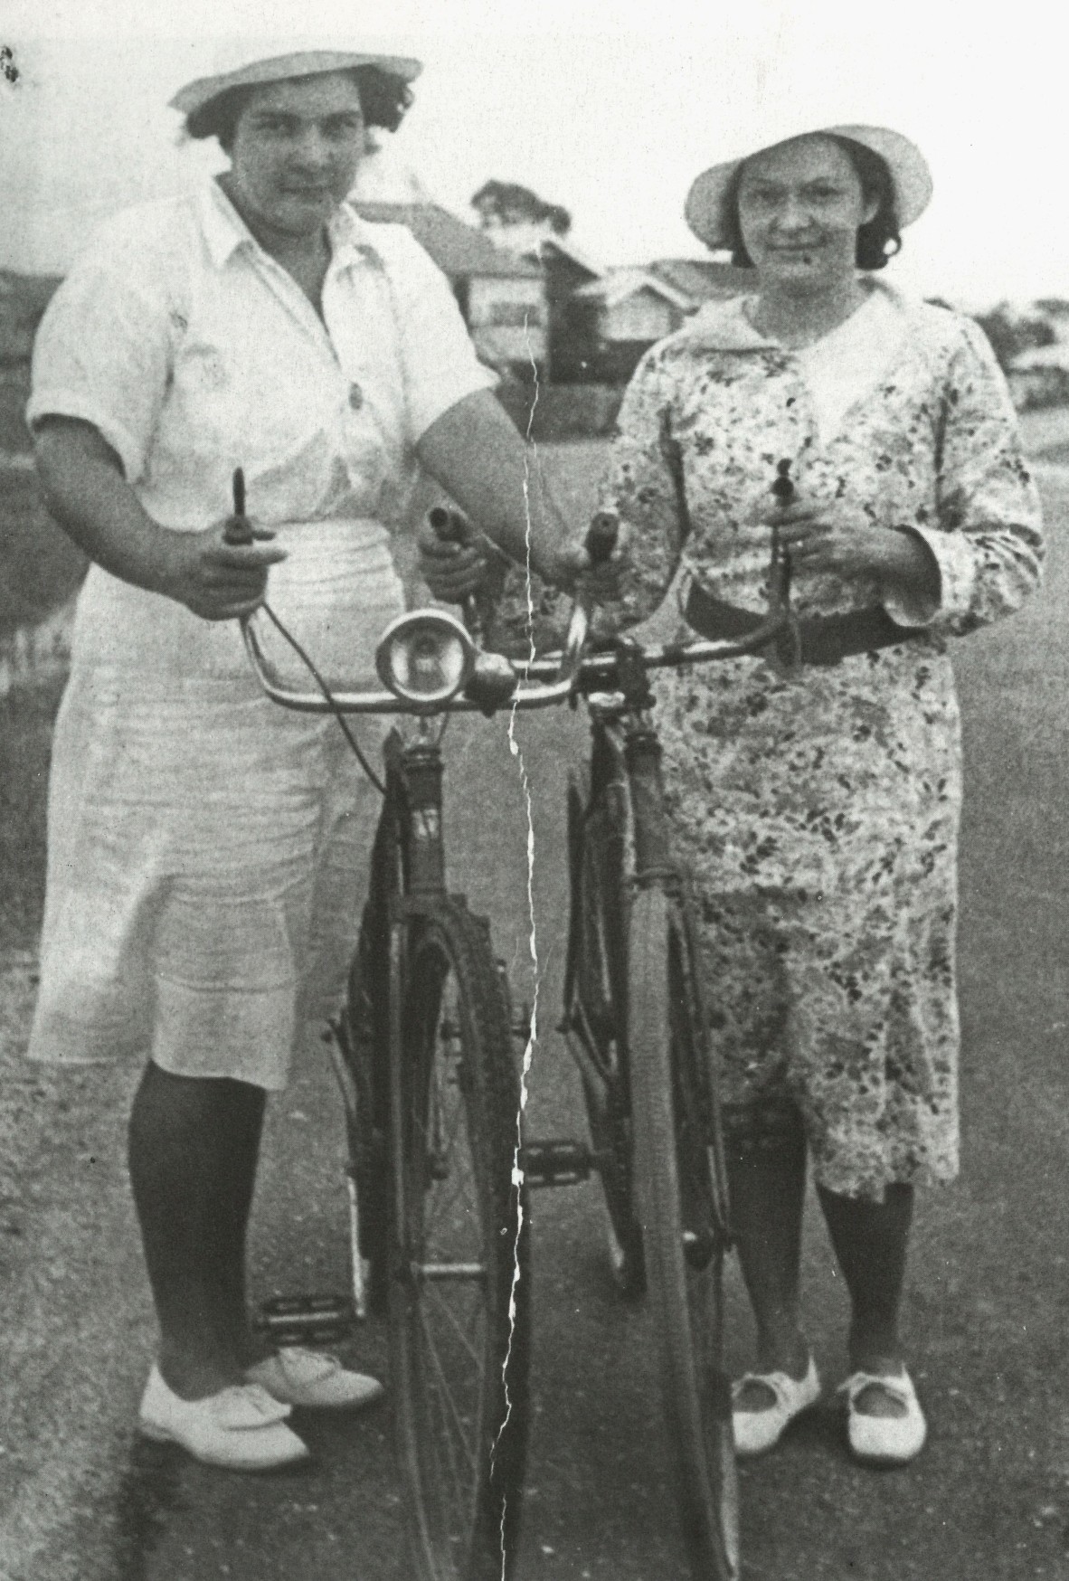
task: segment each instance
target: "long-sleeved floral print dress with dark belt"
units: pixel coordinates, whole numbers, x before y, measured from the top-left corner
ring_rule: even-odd
[[[781,458],[799,498],[911,528],[938,563],[938,610],[884,599],[898,623],[924,624],[898,647],[797,677],[742,658],[656,681],[729,1124],[759,1140],[800,1111],[816,1179],[879,1200],[890,1183],[957,1173],[961,748],[947,645],[1036,587],[1042,536],[980,330],[870,289],[900,332],[824,433],[805,353],[761,337],[745,302],[710,305],[655,346],[625,397],[604,503],[625,523],[614,624],[647,617],[680,568],[762,612],[770,545],[756,515]],[[805,617],[881,598],[876,583],[795,572],[792,602]]]

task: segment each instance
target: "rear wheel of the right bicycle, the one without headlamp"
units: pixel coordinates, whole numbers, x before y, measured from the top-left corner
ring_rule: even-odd
[[[634,1206],[631,1085],[626,1056],[628,969],[625,936],[625,832],[606,790],[590,795],[590,773],[568,786],[568,849],[571,855],[572,969],[566,985],[566,1020],[598,1067],[598,1091],[580,1066],[587,1126],[606,1208],[609,1263],[625,1296],[645,1290],[642,1230]]]

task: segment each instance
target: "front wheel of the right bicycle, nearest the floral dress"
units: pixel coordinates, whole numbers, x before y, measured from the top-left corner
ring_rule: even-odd
[[[683,1540],[696,1581],[738,1576],[738,1486],[723,1366],[723,1203],[696,963],[678,900],[639,890],[629,920],[631,1096],[645,1270]]]

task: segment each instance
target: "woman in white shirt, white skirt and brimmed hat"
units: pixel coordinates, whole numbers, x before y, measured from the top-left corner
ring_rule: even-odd
[[[375,798],[332,723],[266,702],[236,617],[272,602],[370,678],[402,607],[389,550],[422,463],[484,528],[568,563],[448,283],[345,204],[368,123],[419,63],[244,60],[172,100],[231,166],[130,210],[57,292],[28,421],[49,506],[93,564],[55,732],[32,1056],[149,1056],[130,1175],[161,1330],[142,1431],[199,1459],[300,1459],[291,1406],[378,1383],[264,1355],[245,1230],[264,1099],[338,1001]],[[250,545],[225,541],[242,466]]]

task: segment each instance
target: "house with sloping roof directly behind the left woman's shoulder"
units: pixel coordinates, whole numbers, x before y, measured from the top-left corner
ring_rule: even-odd
[[[495,247],[435,202],[351,199],[372,223],[405,225],[452,285],[479,357],[519,378],[549,375],[549,311],[542,270],[530,258]]]

